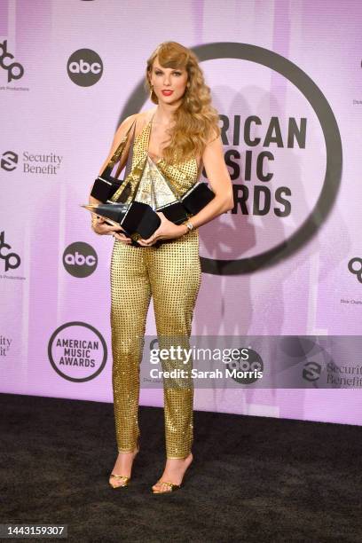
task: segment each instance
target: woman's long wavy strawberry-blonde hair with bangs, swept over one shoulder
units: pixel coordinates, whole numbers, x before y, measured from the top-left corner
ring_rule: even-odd
[[[205,83],[199,59],[190,49],[177,42],[163,42],[153,51],[146,66],[146,91],[151,92],[150,75],[154,59],[161,67],[187,71],[187,84],[183,101],[174,113],[175,125],[169,130],[170,142],[162,150],[169,163],[186,161],[195,155],[201,156],[210,140],[220,136],[219,115],[211,105],[210,88]],[[152,92],[153,104],[158,98]]]

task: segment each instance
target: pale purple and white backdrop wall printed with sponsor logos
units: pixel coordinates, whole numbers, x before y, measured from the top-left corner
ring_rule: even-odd
[[[0,0],[0,391],[112,401],[114,241],[80,204],[172,40],[201,61],[234,187],[200,228],[193,335],[304,338],[285,386],[197,388],[195,409],[360,424],[361,24],[358,0]],[[327,336],[342,364],[319,363]]]

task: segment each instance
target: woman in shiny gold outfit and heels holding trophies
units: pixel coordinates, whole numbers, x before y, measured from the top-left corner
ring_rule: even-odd
[[[211,106],[209,87],[193,51],[179,43],[161,43],[147,61],[146,86],[156,107],[122,122],[101,172],[136,121],[132,168],[145,159],[145,166],[158,173],[156,185],[166,179],[182,194],[199,179],[203,164],[215,197],[184,224],[174,224],[158,213],[161,225],[150,238],[138,239],[138,247],[134,242],[131,245],[120,227],[92,216],[95,232],[114,236],[111,325],[119,453],[109,480],[114,488],[129,484],[132,462],[139,450],[138,372],[150,298],[153,296],[159,341],[171,334],[188,338],[201,282],[198,228],[233,206],[218,114]],[[122,156],[121,169],[129,153],[130,148]],[[90,203],[98,201],[90,196]],[[187,382],[186,388],[164,384],[164,416],[166,466],[152,487],[154,493],[177,490],[193,461],[192,383]]]

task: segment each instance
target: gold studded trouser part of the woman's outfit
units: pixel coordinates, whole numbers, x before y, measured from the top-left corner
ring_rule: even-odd
[[[201,285],[199,232],[138,248],[114,240],[111,258],[111,327],[114,421],[118,450],[132,451],[140,435],[138,427],[139,373],[148,306],[153,297],[159,347],[168,338],[184,338],[189,347],[193,309]],[[178,343],[180,344],[180,343]],[[179,360],[161,360],[169,371]],[[158,365],[159,366],[159,365]],[[158,367],[157,366],[157,367]],[[167,458],[185,458],[193,444],[193,360],[181,366],[189,379],[163,379]],[[154,366],[153,366],[154,367]]]

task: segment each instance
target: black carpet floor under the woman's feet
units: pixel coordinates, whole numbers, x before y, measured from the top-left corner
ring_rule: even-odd
[[[195,411],[185,486],[153,495],[161,408],[140,407],[132,480],[116,490],[112,404],[0,394],[0,409],[0,523],[67,523],[72,542],[362,540],[358,426]]]

